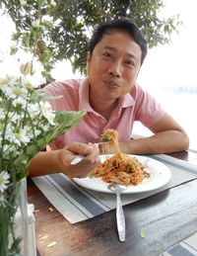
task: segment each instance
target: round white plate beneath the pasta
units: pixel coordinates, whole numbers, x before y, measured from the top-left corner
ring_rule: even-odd
[[[100,160],[103,162],[106,157],[109,155],[100,155]],[[112,156],[112,155],[110,155]],[[163,163],[152,159],[147,156],[139,156],[139,155],[130,155],[135,156],[142,164],[145,164],[148,167],[148,171],[151,174],[151,177],[144,181],[142,184],[133,186],[128,185],[127,189],[124,190],[123,194],[130,193],[142,193],[148,192],[152,190],[159,189],[163,187],[171,178],[171,172]],[[113,193],[107,189],[108,183],[105,183],[101,180],[101,178],[74,178],[73,179],[78,185],[85,187],[87,189],[104,192],[104,193]]]

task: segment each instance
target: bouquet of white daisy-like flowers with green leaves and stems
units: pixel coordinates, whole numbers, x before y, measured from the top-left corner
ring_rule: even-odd
[[[30,160],[85,115],[52,111],[47,96],[27,80],[26,73],[20,78],[0,79],[0,255],[20,251],[14,215],[19,204],[19,184],[28,175]]]

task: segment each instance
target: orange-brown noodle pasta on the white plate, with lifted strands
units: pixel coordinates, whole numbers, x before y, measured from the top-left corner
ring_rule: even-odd
[[[115,153],[99,164],[92,174],[94,177],[101,177],[102,181],[106,183],[123,185],[139,185],[150,177],[147,167],[143,166],[137,158],[120,152],[117,130],[106,129],[101,138],[103,136],[107,137],[110,144],[114,146]]]

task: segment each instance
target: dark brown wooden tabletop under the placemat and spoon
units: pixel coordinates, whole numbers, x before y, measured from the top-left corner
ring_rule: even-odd
[[[196,151],[171,155],[197,164]],[[197,231],[197,180],[125,206],[125,242],[118,240],[115,211],[71,224],[31,180],[28,193],[35,208],[36,246],[41,256],[154,256]],[[56,244],[47,248],[53,241]]]

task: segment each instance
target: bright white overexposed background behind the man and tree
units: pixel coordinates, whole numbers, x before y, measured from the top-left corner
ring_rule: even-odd
[[[171,43],[160,44],[151,48],[138,77],[141,84],[154,95],[173,118],[185,128],[190,136],[191,148],[197,150],[197,1],[196,0],[164,0],[165,6],[161,16],[179,14],[182,26],[178,34],[173,33]],[[0,10],[1,11],[1,10]],[[1,13],[0,13],[1,14]],[[7,15],[0,15],[0,77],[7,73],[18,75],[18,62],[29,61],[30,55],[20,50],[10,55],[11,35],[15,26]],[[34,82],[41,84],[42,77],[37,64]],[[62,80],[81,77],[79,72],[73,73],[69,61],[57,61],[52,69],[52,77]],[[150,131],[136,123],[134,133],[148,135]]]

